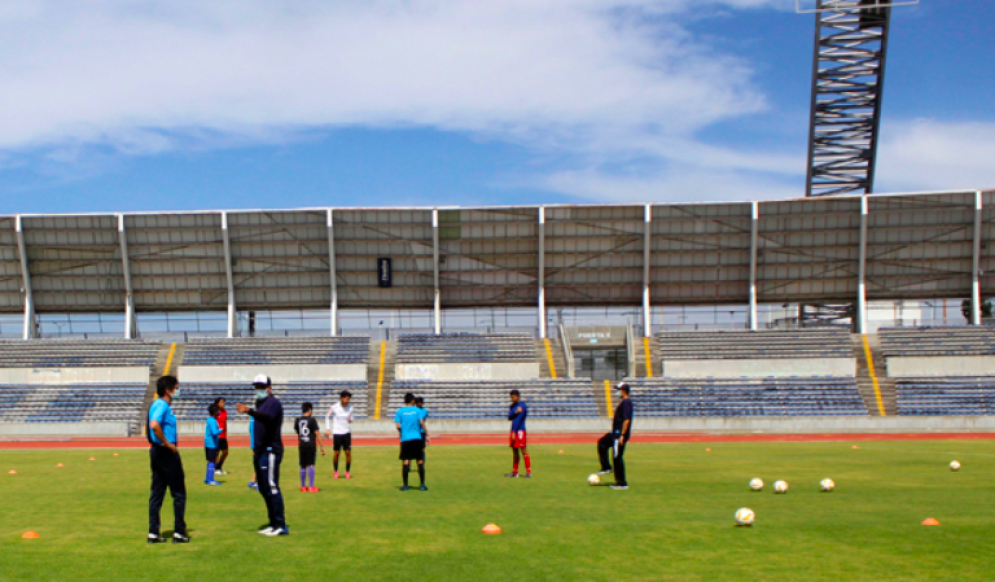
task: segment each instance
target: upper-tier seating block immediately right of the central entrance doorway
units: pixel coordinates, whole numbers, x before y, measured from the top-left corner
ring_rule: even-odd
[[[657,335],[663,360],[851,358],[845,329],[691,331]]]

